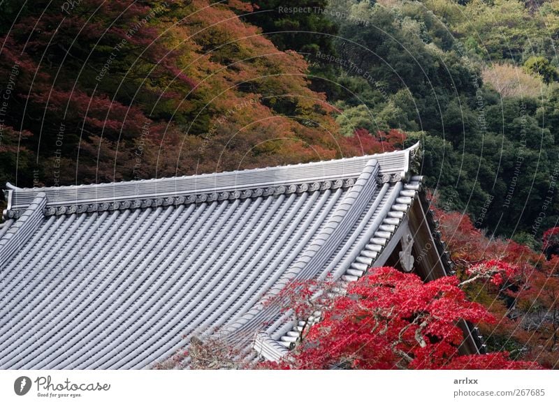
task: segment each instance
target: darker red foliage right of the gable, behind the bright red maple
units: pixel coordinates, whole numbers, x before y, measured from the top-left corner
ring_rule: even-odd
[[[468,296],[498,319],[480,327],[489,350],[559,368],[559,257],[551,254],[558,227],[544,232],[546,260],[515,241],[486,237],[465,214],[432,208],[458,274],[479,280],[463,280]]]

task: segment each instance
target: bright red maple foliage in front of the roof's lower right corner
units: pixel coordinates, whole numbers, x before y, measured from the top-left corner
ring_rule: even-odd
[[[296,290],[300,290],[300,285]],[[291,289],[293,291],[293,289]],[[289,290],[288,290],[289,293]],[[305,292],[309,297],[312,292]],[[300,297],[296,297],[300,299]],[[300,313],[304,311],[299,310]],[[323,311],[294,354],[266,368],[538,368],[505,354],[458,356],[458,320],[494,322],[449,276],[423,283],[419,276],[383,267],[347,287]]]

